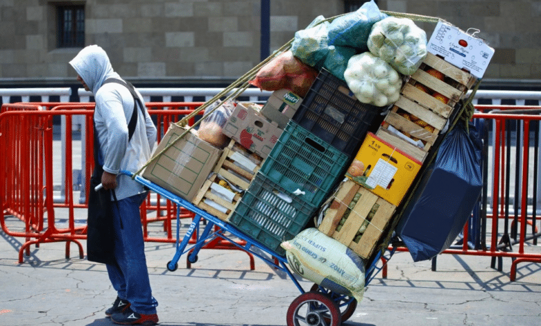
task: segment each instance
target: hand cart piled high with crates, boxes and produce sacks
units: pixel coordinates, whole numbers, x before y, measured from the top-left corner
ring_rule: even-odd
[[[432,17],[423,18],[437,23],[427,42],[411,19],[397,16],[370,1],[357,12],[316,18],[171,124],[140,171],[122,171],[177,205],[169,271],[182,255],[195,262],[207,243],[223,239],[289,275],[301,294],[287,325],[336,326],[352,316],[397,246],[436,250],[431,255],[448,246],[410,241],[411,230],[427,227],[415,204],[427,185],[454,181],[454,171],[433,172],[442,170],[438,151],[463,129],[455,126],[471,119],[474,92],[466,93],[479,86],[492,53],[482,40]],[[486,53],[482,64],[454,62],[442,45],[463,46],[466,39]],[[264,105],[235,101],[250,85],[273,94]],[[464,187],[474,185],[452,190],[475,198]],[[456,201],[452,213],[470,214],[466,200]],[[195,214],[182,237],[181,207]],[[447,214],[453,223],[441,237],[456,238],[466,221],[457,214]],[[305,291],[297,275],[314,286]]]

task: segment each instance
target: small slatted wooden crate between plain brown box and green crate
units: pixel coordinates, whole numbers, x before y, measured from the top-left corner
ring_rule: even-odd
[[[259,155],[247,151],[236,141],[231,140],[192,203],[221,220],[227,221],[242,198],[241,191],[234,191],[231,186],[241,190],[248,189],[263,162],[264,159]],[[225,194],[227,199],[218,196],[216,191]],[[219,209],[213,204],[218,204]]]

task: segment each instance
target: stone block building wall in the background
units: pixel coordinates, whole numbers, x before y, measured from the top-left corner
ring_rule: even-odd
[[[266,58],[261,51],[280,48],[318,15],[343,14],[348,2],[356,1],[0,0],[0,87],[73,81],[67,62],[80,47],[58,47],[59,6],[84,8],[84,44],[101,45],[121,76],[178,83],[234,80]],[[541,79],[541,1],[376,3],[381,10],[440,17],[463,31],[479,29],[477,36],[496,50],[486,79]],[[435,26],[418,25],[428,36]]]

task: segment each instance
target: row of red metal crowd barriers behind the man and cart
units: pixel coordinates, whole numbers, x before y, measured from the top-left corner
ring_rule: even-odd
[[[193,112],[202,103],[147,103],[148,112],[158,128],[158,140],[174,123]],[[510,278],[515,280],[517,264],[523,262],[541,262],[541,253],[526,250],[530,244],[537,244],[541,236],[540,218],[537,216],[538,175],[537,167],[531,175],[529,166],[539,161],[539,115],[524,114],[537,112],[541,107],[509,105],[476,105],[482,113],[474,114],[474,119],[484,119],[490,126],[491,155],[485,155],[491,170],[485,171],[488,183],[481,201],[481,208],[476,219],[465,225],[463,242],[452,246],[443,254],[478,255],[495,259],[512,259]],[[86,239],[86,226],[76,223],[76,209],[86,209],[86,202],[76,203],[73,196],[73,166],[66,160],[64,168],[65,196],[60,202],[53,200],[53,117],[65,119],[65,126],[71,126],[74,115],[83,115],[85,130],[81,141],[85,144],[86,160],[83,170],[88,176],[92,173],[92,114],[94,103],[13,103],[2,105],[0,114],[0,224],[4,232],[12,237],[23,237],[25,243],[19,250],[19,262],[22,263],[24,251],[29,255],[31,244],[53,241],[66,241],[66,257],[69,258],[69,244],[76,243],[80,257],[83,248],[78,240]],[[495,113],[498,110],[499,112]],[[521,110],[517,114],[517,110]],[[203,114],[203,112],[201,112]],[[189,121],[189,124],[194,121]],[[513,124],[511,126],[510,124]],[[66,157],[72,157],[72,130],[65,128]],[[83,130],[82,130],[83,131]],[[510,132],[514,132],[510,144]],[[515,155],[509,149],[515,148]],[[537,163],[535,163],[537,164]],[[490,173],[489,173],[490,172]],[[512,176],[515,180],[511,180]],[[533,178],[532,178],[533,177]],[[87,178],[87,179],[88,179]],[[511,198],[509,187],[515,185],[515,196]],[[83,192],[88,194],[89,182],[83,185]],[[530,198],[530,199],[529,199]],[[531,200],[533,198],[533,200]],[[511,200],[514,199],[514,200]],[[485,205],[486,204],[486,205]],[[487,209],[487,207],[491,207]],[[68,211],[67,227],[55,225],[55,209]],[[155,213],[155,215],[151,214]],[[175,221],[177,207],[169,200],[163,200],[159,194],[149,196],[141,205],[141,222],[144,227],[145,241],[174,243],[172,221]],[[84,213],[86,216],[86,212]],[[24,223],[22,230],[9,230],[5,223],[6,216],[15,216]],[[193,213],[182,209],[181,218],[192,218]],[[46,225],[45,225],[46,222]],[[163,223],[161,236],[150,236],[150,223]],[[476,223],[478,225],[472,225]],[[474,228],[475,226],[475,228]],[[472,237],[475,240],[470,240]],[[214,248],[235,249],[223,243],[213,243]],[[535,248],[535,246],[531,246]],[[406,248],[399,248],[406,250]],[[435,268],[435,264],[433,264]],[[384,271],[385,275],[385,271]]]

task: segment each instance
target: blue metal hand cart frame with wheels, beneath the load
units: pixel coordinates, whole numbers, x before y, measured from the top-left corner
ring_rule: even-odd
[[[270,264],[271,266],[277,268],[280,271],[284,271],[287,275],[289,275],[289,278],[295,284],[295,286],[297,286],[297,289],[300,291],[301,295],[296,298],[289,307],[287,316],[288,326],[299,325],[298,323],[294,322],[295,318],[300,318],[300,320],[306,322],[307,325],[338,326],[341,325],[343,321],[347,320],[347,318],[349,318],[353,314],[354,309],[357,307],[357,300],[355,300],[353,297],[339,293],[333,293],[323,288],[322,286],[317,286],[316,284],[312,286],[310,291],[305,291],[298,282],[295,275],[287,267],[286,257],[282,257],[281,255],[277,254],[277,252],[274,252],[266,246],[261,245],[261,243],[255,241],[251,237],[248,237],[246,234],[235,228],[234,225],[226,223],[220,218],[217,218],[216,216],[205,212],[205,210],[200,209],[192,203],[189,203],[189,201],[185,200],[184,198],[181,198],[173,194],[171,191],[164,189],[163,187],[160,187],[159,185],[156,185],[149,180],[146,180],[140,175],[134,176],[134,173],[130,171],[121,171],[120,173],[130,176],[130,178],[133,178],[141,185],[144,185],[151,191],[154,191],[155,193],[164,196],[172,203],[175,203],[177,205],[177,230],[175,242],[176,251],[171,261],[166,264],[166,268],[169,271],[175,271],[178,268],[178,261],[180,260],[180,257],[187,252],[189,252],[189,255],[187,257],[188,261],[190,261],[191,263],[195,263],[197,261],[197,255],[199,250],[201,250],[207,243],[214,241],[216,238],[219,237],[221,239],[224,239],[225,241],[229,241],[234,246],[237,246],[238,248],[259,257],[260,259],[263,259],[264,261],[266,261],[267,264]],[[195,214],[187,232],[182,237],[182,241],[180,237],[181,207]],[[203,218],[206,220],[207,223],[205,225],[205,228],[203,229],[203,232],[200,232],[200,222],[203,221]],[[231,235],[226,235],[226,232]],[[196,243],[193,246],[187,248],[191,238],[194,237],[194,234]],[[238,239],[245,241],[245,243],[241,245],[238,241],[232,239],[233,237],[237,237]],[[254,248],[258,250],[255,250]],[[375,257],[372,259],[370,266],[366,268],[365,286],[370,284],[370,282],[374,279],[377,273],[379,273],[379,271],[384,268],[384,265],[377,266],[378,261],[381,259],[384,261],[384,264],[386,264],[390,257],[393,256],[395,251],[396,248],[390,248],[386,249],[383,253],[381,251],[377,252]],[[265,255],[262,255],[261,252],[265,252],[266,254],[270,255],[274,258],[274,260],[269,259]],[[297,313],[300,310],[298,308],[301,307],[303,304],[309,304],[307,310],[311,312],[307,313],[307,316],[297,316]],[[320,324],[318,323],[318,320],[325,320],[325,323],[322,322],[322,324]]]

